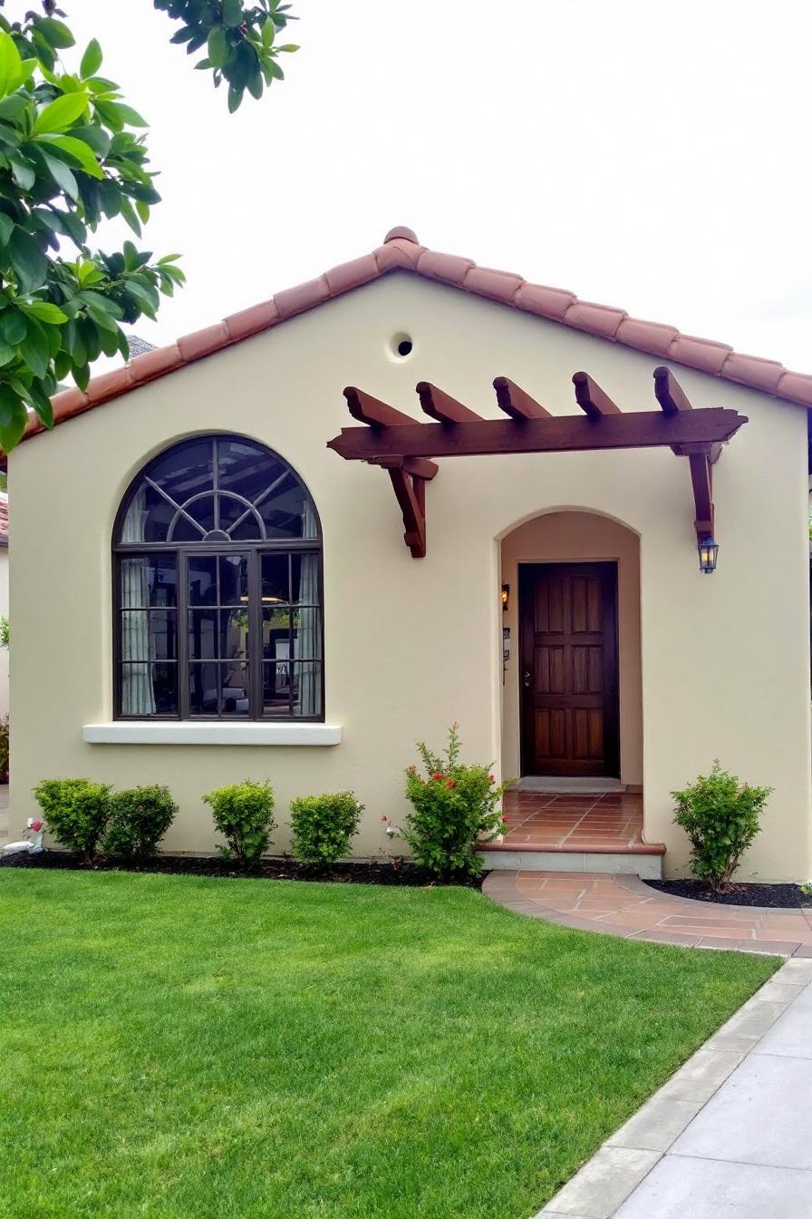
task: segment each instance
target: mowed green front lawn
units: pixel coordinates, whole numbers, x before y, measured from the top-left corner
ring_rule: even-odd
[[[463,889],[0,873],[4,1219],[527,1219],[775,969]]]

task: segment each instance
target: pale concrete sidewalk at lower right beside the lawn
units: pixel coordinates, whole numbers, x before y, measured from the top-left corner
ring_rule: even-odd
[[[754,995],[539,1212],[812,1219],[812,959]]]

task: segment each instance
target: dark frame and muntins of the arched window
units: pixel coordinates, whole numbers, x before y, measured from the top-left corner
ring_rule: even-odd
[[[159,541],[159,542],[122,542],[119,541],[122,534],[122,527],[127,513],[129,511],[130,503],[134,496],[138,494],[144,479],[149,477],[150,469],[156,461],[163,460],[167,453],[173,449],[180,449],[183,445],[195,441],[195,440],[234,440],[234,441],[247,441],[252,445],[257,445],[262,449],[270,460],[279,462],[296,478],[303,489],[313,517],[315,521],[315,528],[318,530],[315,538],[264,538],[262,540],[254,541],[220,541],[220,540],[205,540],[201,538],[200,541]],[[214,453],[214,444],[212,445],[212,452]],[[217,462],[214,464],[214,488],[213,494],[215,496],[219,492],[217,485]],[[239,496],[237,496],[239,497]],[[261,501],[264,497],[261,496]],[[156,663],[156,664],[174,664],[177,673],[177,703],[178,711],[173,713],[155,712],[152,714],[125,714],[122,709],[122,686],[123,686],[123,666],[127,663],[122,659],[122,616],[123,612],[133,610],[135,607],[122,605],[122,579],[121,568],[122,561],[129,556],[135,555],[166,555],[173,556],[175,562],[175,659],[174,661],[152,661],[151,658],[144,663]],[[265,663],[274,663],[274,661],[267,661],[264,657],[264,650],[262,644],[262,623],[263,623],[263,602],[262,602],[262,557],[263,555],[287,555],[289,556],[289,594],[290,580],[291,580],[291,561],[292,556],[296,555],[313,555],[318,556],[317,564],[317,588],[318,588],[318,613],[319,613],[319,627],[318,627],[318,639],[319,639],[319,707],[320,712],[315,716],[302,716],[293,714],[293,683],[289,680],[289,705],[287,714],[270,713],[265,714],[263,709],[263,667]],[[247,668],[248,668],[248,711],[247,712],[235,712],[235,713],[220,713],[218,714],[197,714],[190,712],[190,658],[189,658],[189,573],[187,564],[189,560],[192,557],[203,556],[219,556],[219,555],[247,555],[248,557],[248,656],[247,656]],[[321,531],[321,522],[319,518],[318,508],[313,501],[307,484],[297,473],[297,471],[285,461],[279,453],[267,445],[262,445],[259,441],[250,436],[241,436],[236,433],[212,433],[203,436],[187,436],[184,440],[177,441],[175,444],[168,446],[155,453],[149,462],[146,462],[135,478],[129,484],[122,502],[119,505],[118,512],[116,513],[116,521],[113,524],[113,539],[112,539],[112,612],[113,612],[113,718],[116,720],[123,720],[125,723],[324,723],[325,722],[325,652],[324,652],[324,540]],[[282,606],[287,606],[289,613],[289,659],[287,662],[280,661],[279,663],[287,663],[290,666],[289,674],[292,675],[292,666],[295,663],[302,663],[301,659],[293,656],[293,618],[296,613],[296,602],[282,602]],[[309,603],[308,603],[309,605]],[[168,607],[172,608],[172,607]],[[201,607],[202,608],[202,607]],[[253,644],[252,641],[257,642]],[[141,663],[141,662],[135,662]],[[229,663],[228,661],[220,659],[203,659],[192,658],[191,663],[211,663],[222,664]],[[219,686],[218,686],[219,689]]]

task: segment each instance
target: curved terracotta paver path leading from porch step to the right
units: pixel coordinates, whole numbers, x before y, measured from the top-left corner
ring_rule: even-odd
[[[581,931],[694,948],[812,957],[812,907],[716,906],[657,892],[637,876],[603,872],[494,870],[482,891],[520,914]]]

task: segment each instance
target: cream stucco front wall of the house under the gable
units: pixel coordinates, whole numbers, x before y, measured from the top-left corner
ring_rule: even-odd
[[[391,354],[408,333],[414,351]],[[712,758],[775,786],[746,864],[806,876],[810,666],[806,414],[679,369],[696,406],[750,416],[716,467],[718,570],[696,568],[688,463],[668,450],[454,458],[427,489],[429,555],[410,558],[388,479],[325,442],[347,425],[341,389],[418,416],[429,379],[498,416],[491,382],[513,377],[555,413],[573,411],[586,368],[623,410],[650,410],[657,361],[407,274],[338,301],[91,411],[16,450],[11,617],[12,808],[33,811],[44,775],[167,783],[181,812],[167,840],[209,850],[201,795],[270,775],[287,844],[290,798],[354,787],[366,805],[359,853],[386,845],[403,812],[413,742],[463,724],[465,753],[502,752],[499,539],[539,513],[612,518],[639,535],[643,779],[646,836],[685,859],[668,792]],[[88,745],[112,717],[111,558],[116,508],[155,452],[194,433],[234,430],[278,450],[307,480],[324,525],[326,716],[331,748]],[[54,620],[60,623],[58,636]]]

